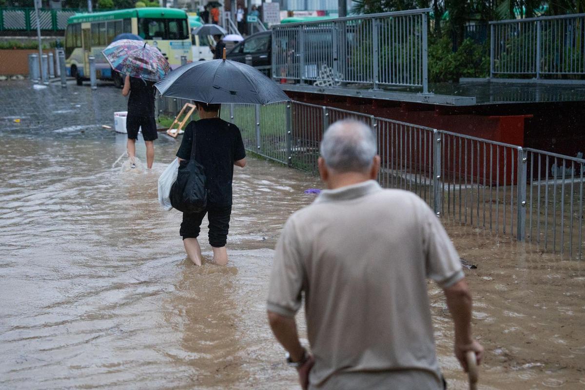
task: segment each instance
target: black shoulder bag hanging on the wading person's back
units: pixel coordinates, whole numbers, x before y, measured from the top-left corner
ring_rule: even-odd
[[[195,160],[196,140],[197,129],[193,126],[191,158],[187,165],[182,168],[179,166],[177,181],[173,183],[169,194],[173,208],[184,213],[198,213],[207,206],[205,168]]]

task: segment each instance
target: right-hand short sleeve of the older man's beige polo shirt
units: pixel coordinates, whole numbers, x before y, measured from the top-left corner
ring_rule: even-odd
[[[459,254],[449,239],[445,227],[435,213],[421,201],[421,223],[423,226],[423,247],[426,257],[426,277],[433,279],[445,289],[465,276]]]

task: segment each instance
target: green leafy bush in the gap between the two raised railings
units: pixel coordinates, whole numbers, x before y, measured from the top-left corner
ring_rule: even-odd
[[[487,77],[490,54],[485,45],[466,39],[453,52],[452,41],[444,36],[429,44],[429,81],[457,81],[460,77]]]

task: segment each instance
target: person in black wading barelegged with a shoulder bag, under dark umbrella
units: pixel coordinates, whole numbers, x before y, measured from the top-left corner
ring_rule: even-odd
[[[225,244],[232,213],[233,165],[245,167],[246,151],[238,126],[219,119],[221,105],[202,102],[195,102],[195,105],[201,119],[192,121],[185,128],[177,157],[182,167],[188,163],[193,132],[197,132],[195,159],[205,168],[207,208],[199,213],[183,213],[180,235],[183,236],[187,256],[194,264],[201,265],[201,247],[197,237],[207,214],[209,244],[214,250],[214,261],[225,265],[228,263]]]

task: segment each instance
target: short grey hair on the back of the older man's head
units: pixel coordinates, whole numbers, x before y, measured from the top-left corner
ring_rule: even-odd
[[[339,120],[326,130],[320,151],[325,165],[333,171],[366,172],[376,156],[376,139],[365,123]]]

